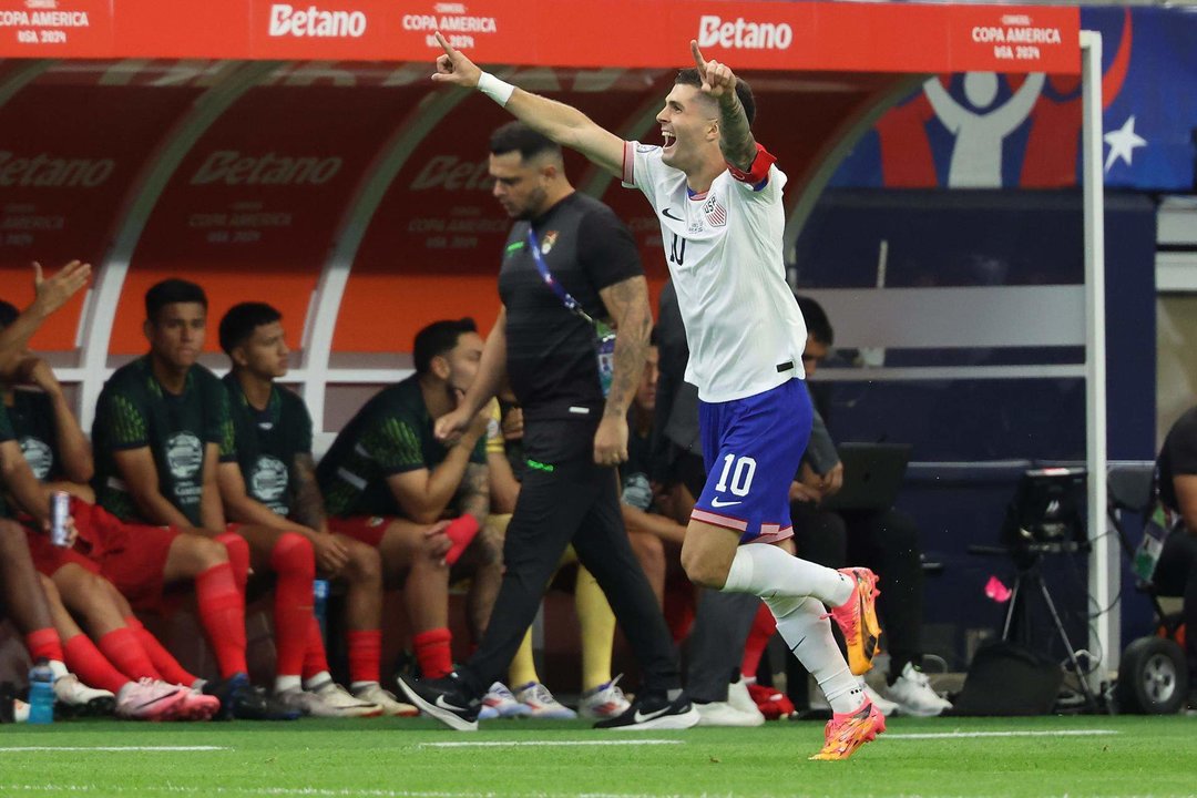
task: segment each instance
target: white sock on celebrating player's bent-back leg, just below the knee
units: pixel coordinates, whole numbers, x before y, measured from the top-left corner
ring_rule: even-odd
[[[852,581],[833,568],[792,556],[768,543],[748,543],[736,549],[723,584],[727,593],[814,596],[828,607],[839,607],[852,596]]]

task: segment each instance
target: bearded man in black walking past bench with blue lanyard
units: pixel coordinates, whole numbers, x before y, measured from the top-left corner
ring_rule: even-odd
[[[698,713],[681,690],[678,653],[627,541],[614,471],[627,459],[627,408],[652,323],[636,244],[610,208],[573,190],[560,147],[524,124],[494,132],[490,170],[496,199],[516,219],[499,270],[503,309],[478,377],[458,408],[437,421],[437,434],[460,435],[506,377],[523,408],[527,470],[481,646],[450,676],[401,680],[400,687],[442,723],[476,729],[481,696],[511,662],[572,543],[644,669],[631,708],[596,725],[692,726]],[[619,330],[606,398],[591,319]]]

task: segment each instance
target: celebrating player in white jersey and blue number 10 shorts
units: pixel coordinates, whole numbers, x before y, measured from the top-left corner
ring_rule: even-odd
[[[439,33],[432,79],[478,89],[553,141],[638,188],[656,211],[699,389],[709,475],[686,530],[682,566],[703,586],[760,596],[834,712],[814,759],[840,760],[885,731],[853,676],[871,666],[876,577],[792,556],[789,487],[810,434],[800,379],[806,325],[785,284],[786,177],[752,134],[748,85],[691,42],[657,114],[663,146],[624,141],[569,105],[482,72]],[[469,408],[464,408],[469,409]],[[450,421],[460,426],[461,419]],[[844,631],[849,664],[825,605]]]

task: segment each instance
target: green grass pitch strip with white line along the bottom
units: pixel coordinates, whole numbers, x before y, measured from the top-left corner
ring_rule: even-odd
[[[1192,796],[1197,718],[891,719],[846,762],[821,724],[597,732],[424,719],[0,726],[0,796]]]

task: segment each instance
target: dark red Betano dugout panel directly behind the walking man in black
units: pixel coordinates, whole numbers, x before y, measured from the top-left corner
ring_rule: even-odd
[[[646,110],[642,73],[603,81],[566,69],[528,69],[515,79],[619,132],[645,112],[651,117],[667,89],[662,84],[660,92],[649,93]],[[474,316],[482,330],[490,329],[499,307],[498,269],[511,220],[491,195],[487,141],[494,128],[510,121],[494,103],[467,96],[415,147],[354,260],[335,352],[409,352],[415,333],[442,318]],[[594,167],[576,153],[565,157],[566,175],[584,188]],[[660,244],[655,255],[660,261]]]

